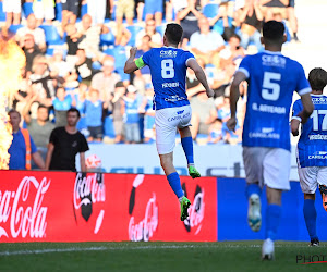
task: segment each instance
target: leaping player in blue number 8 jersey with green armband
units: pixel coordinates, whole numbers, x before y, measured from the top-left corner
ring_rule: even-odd
[[[124,72],[132,73],[145,65],[150,69],[155,89],[156,146],[167,180],[180,200],[181,221],[184,221],[189,217],[187,209],[191,202],[184,196],[179,174],[172,163],[177,128],[187,159],[189,174],[193,178],[201,176],[194,166],[193,140],[189,127],[192,110],[185,91],[187,67],[195,72],[208,97],[213,97],[214,91],[209,88],[206,75],[194,55],[189,51],[178,49],[182,35],[183,28],[179,24],[168,24],[164,35],[165,47],[153,48],[135,61],[137,49],[131,48],[131,55],[125,63]]]

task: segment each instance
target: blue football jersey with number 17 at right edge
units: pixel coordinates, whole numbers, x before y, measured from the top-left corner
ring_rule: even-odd
[[[327,97],[312,95],[315,110],[302,125],[298,143],[298,164],[301,168],[327,166]],[[293,116],[303,110],[301,99],[293,104]]]

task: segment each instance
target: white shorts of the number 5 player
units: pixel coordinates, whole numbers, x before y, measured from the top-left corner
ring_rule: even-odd
[[[259,183],[274,189],[289,190],[291,152],[282,148],[243,147],[247,183]]]

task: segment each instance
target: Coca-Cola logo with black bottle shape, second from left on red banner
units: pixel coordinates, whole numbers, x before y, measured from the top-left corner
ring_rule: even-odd
[[[88,221],[93,213],[93,206],[106,201],[106,185],[102,173],[77,173],[74,184],[73,202],[75,212],[81,210],[82,218]],[[97,234],[102,225],[105,210],[96,215],[94,233]]]

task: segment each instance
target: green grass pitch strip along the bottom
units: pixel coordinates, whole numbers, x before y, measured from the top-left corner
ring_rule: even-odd
[[[327,263],[296,263],[296,255],[325,255],[327,261],[326,243],[308,247],[307,243],[277,242],[275,261],[261,260],[261,246],[262,242],[2,243],[0,270],[327,271]]]

